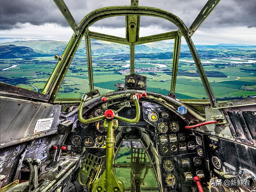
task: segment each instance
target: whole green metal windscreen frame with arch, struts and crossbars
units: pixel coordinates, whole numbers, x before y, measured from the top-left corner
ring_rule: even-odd
[[[64,76],[67,73],[67,70],[69,68],[69,65],[71,64],[73,56],[84,36],[85,36],[85,42],[86,42],[90,91],[94,90],[90,38],[129,45],[130,46],[130,73],[135,73],[134,56],[135,56],[136,44],[175,39],[173,64],[172,64],[172,80],[171,80],[171,89],[170,89],[171,92],[174,93],[175,84],[176,84],[176,74],[178,71],[178,59],[180,54],[180,43],[181,43],[180,40],[181,40],[181,36],[183,36],[188,44],[189,50],[191,51],[197,70],[199,71],[199,74],[200,74],[202,83],[204,85],[206,94],[208,95],[210,104],[212,107],[214,107],[217,102],[213,95],[209,81],[206,77],[205,71],[202,67],[199,56],[196,52],[196,48],[192,42],[191,36],[195,33],[196,29],[202,24],[202,22],[210,14],[210,12],[212,12],[212,10],[214,9],[214,7],[216,7],[219,1],[220,0],[208,0],[205,7],[202,9],[199,16],[197,16],[196,20],[193,22],[191,27],[187,28],[184,22],[174,14],[158,8],[140,7],[138,6],[138,1],[133,1],[133,0],[131,1],[131,6],[106,7],[106,8],[94,10],[93,12],[86,15],[82,19],[80,24],[77,26],[76,22],[74,21],[64,1],[54,0],[55,4],[60,9],[61,13],[63,13],[64,17],[66,18],[69,25],[73,29],[74,34],[62,54],[63,60],[57,63],[49,80],[44,86],[42,93],[50,95],[50,102],[55,101],[56,95],[63,82]],[[88,27],[94,24],[95,22],[102,20],[103,18],[114,17],[114,16],[125,16],[126,29],[127,29],[126,38],[120,38],[112,35],[106,35],[106,34],[89,31]],[[139,37],[140,16],[153,16],[153,17],[163,18],[175,24],[178,27],[178,30],[140,38]]]

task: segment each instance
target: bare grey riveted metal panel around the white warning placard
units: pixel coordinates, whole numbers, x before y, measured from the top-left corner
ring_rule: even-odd
[[[0,148],[57,132],[60,105],[0,97]],[[39,119],[53,118],[51,127],[34,133]]]

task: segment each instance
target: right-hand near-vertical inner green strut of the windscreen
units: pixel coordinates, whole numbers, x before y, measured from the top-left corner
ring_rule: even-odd
[[[171,75],[171,92],[175,93],[175,85],[177,79],[177,72],[178,72],[178,62],[179,62],[179,55],[180,55],[180,44],[181,44],[181,37],[179,35],[176,36],[174,40],[174,47],[173,47],[173,56],[172,56],[172,75]]]

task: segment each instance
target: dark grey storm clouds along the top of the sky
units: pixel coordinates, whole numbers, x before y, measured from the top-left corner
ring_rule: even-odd
[[[140,6],[165,9],[180,17],[189,27],[204,7],[206,0],[140,0]],[[130,5],[129,0],[65,0],[77,24],[89,12],[107,6]],[[0,30],[17,27],[17,23],[41,25],[58,23],[68,26],[67,21],[52,0],[0,0]],[[256,27],[256,0],[222,0],[202,27],[246,26]],[[159,18],[142,18],[141,26],[156,25],[163,29],[175,26]],[[124,17],[104,19],[95,26],[124,27]]]

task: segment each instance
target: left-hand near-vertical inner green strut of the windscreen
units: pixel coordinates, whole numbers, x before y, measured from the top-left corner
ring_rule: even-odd
[[[85,35],[85,44],[86,44],[86,57],[88,65],[88,76],[89,76],[89,86],[90,91],[94,90],[93,85],[93,62],[91,60],[91,39],[89,35]]]

